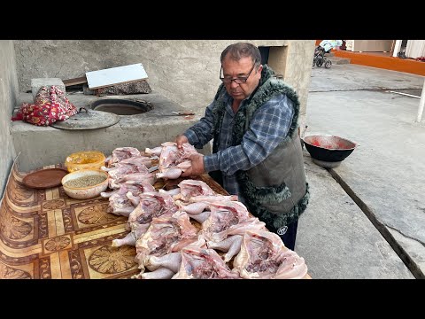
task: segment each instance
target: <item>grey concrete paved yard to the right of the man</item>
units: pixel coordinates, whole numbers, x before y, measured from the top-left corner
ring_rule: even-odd
[[[368,66],[313,68],[305,136],[359,146],[339,167],[305,151],[312,197],[296,251],[313,278],[425,278],[423,76]]]

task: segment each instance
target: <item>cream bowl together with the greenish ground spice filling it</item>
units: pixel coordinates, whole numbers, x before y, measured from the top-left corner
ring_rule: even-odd
[[[62,186],[71,198],[95,198],[108,188],[108,173],[97,169],[81,169],[65,175]]]

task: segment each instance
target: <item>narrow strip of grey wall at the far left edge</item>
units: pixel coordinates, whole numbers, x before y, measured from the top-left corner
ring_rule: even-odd
[[[13,42],[2,40],[0,41],[0,198],[3,197],[4,186],[15,158],[9,128],[18,92]]]

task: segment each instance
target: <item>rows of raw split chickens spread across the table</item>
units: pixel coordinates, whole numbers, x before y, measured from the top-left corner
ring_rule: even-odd
[[[205,182],[185,179],[170,191],[158,179],[177,179],[190,167],[190,144],[166,142],[142,153],[120,147],[102,167],[109,174],[108,213],[128,217],[126,237],[112,246],[134,245],[141,279],[303,278],[305,260],[283,245],[237,196],[215,193]],[[152,161],[158,166],[152,166]]]

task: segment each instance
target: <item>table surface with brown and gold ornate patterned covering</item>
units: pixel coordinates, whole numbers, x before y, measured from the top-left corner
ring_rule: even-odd
[[[51,165],[42,168],[62,167]],[[108,198],[69,198],[63,187],[27,188],[16,165],[0,206],[0,278],[129,278],[140,272],[135,247],[112,247],[128,218],[106,212]],[[228,195],[209,175],[197,177]],[[157,190],[180,180],[158,181]],[[309,277],[309,276],[308,276]]]

